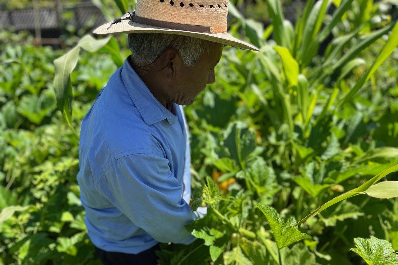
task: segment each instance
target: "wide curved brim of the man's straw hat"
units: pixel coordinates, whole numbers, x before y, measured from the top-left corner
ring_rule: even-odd
[[[232,35],[228,33],[205,33],[205,32],[195,32],[195,31],[185,31],[185,30],[176,30],[176,29],[167,29],[163,27],[154,27],[148,26],[145,24],[140,24],[136,22],[132,22],[131,20],[122,20],[119,23],[113,24],[109,29],[109,25],[112,22],[108,22],[103,24],[100,27],[97,27],[93,33],[95,34],[109,34],[109,33],[142,33],[142,32],[150,32],[150,33],[169,33],[169,34],[178,34],[185,35],[190,37],[196,37],[199,39],[205,39],[208,41],[213,41],[225,45],[230,45],[242,49],[248,49],[252,51],[259,51],[259,49],[245,41],[241,41],[240,39],[236,39]]]

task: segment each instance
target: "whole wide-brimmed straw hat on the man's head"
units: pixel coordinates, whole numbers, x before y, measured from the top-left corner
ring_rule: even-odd
[[[96,28],[95,34],[169,33],[259,51],[226,32],[229,0],[137,0],[135,12]]]

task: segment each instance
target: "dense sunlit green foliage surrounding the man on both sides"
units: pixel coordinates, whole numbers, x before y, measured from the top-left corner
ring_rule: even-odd
[[[216,82],[185,108],[192,208],[208,214],[186,226],[191,245],[161,244],[160,264],[398,264],[398,199],[373,185],[398,180],[387,175],[398,163],[398,27],[369,0],[308,1],[294,27],[266,4],[266,29],[230,6],[230,32],[261,52],[226,47]],[[65,51],[16,44],[26,38],[0,33],[0,263],[98,264],[78,135],[128,51],[86,37],[60,76]]]

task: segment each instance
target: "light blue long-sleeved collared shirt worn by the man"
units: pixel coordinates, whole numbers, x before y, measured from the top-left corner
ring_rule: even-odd
[[[88,236],[106,251],[137,254],[158,242],[190,244],[190,151],[182,106],[165,108],[129,58],[82,120],[77,181]],[[198,208],[199,209],[199,208]]]

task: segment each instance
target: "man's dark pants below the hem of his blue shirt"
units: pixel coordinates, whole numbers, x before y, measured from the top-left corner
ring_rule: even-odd
[[[160,250],[159,243],[150,249],[142,251],[138,254],[127,254],[121,252],[105,251],[94,246],[97,257],[99,257],[104,265],[157,265],[158,257],[155,250]]]

